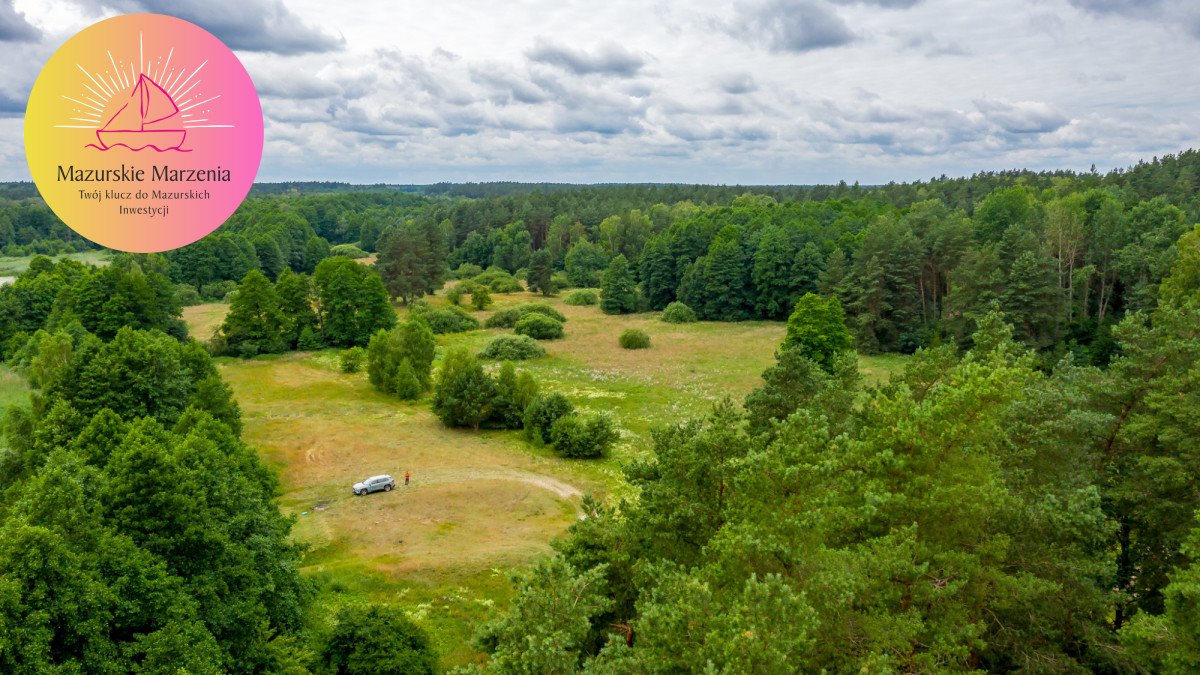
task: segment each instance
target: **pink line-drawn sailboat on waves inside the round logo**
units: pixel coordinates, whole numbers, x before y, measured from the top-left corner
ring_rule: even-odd
[[[187,138],[179,117],[179,106],[170,94],[144,73],[126,102],[107,123],[96,131],[100,150],[125,145],[130,150],[154,148],[162,153],[180,150]]]

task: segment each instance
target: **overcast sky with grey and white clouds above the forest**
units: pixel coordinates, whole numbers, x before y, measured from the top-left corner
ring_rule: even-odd
[[[234,48],[259,180],[882,183],[1102,171],[1200,132],[1195,0],[0,0],[0,180],[95,20]]]

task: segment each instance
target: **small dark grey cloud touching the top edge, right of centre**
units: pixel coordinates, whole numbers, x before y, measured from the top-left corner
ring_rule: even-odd
[[[854,41],[846,22],[833,8],[814,0],[768,0],[758,5],[742,5],[739,14],[726,28],[727,32],[751,44],[766,38],[773,52],[798,54]]]

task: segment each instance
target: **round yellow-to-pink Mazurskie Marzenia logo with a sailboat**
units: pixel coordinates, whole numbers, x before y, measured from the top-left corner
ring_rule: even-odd
[[[217,228],[263,159],[263,108],[238,56],[162,14],[94,24],[50,58],[25,108],[25,159],[62,222],[109,249],[168,251]]]

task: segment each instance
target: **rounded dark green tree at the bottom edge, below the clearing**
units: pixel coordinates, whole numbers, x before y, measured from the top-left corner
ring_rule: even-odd
[[[320,652],[319,673],[433,675],[438,657],[428,635],[397,607],[347,607]]]

